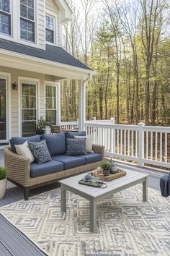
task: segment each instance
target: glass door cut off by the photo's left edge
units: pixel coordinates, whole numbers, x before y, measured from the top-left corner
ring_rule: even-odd
[[[0,144],[7,142],[6,79],[0,77]]]

